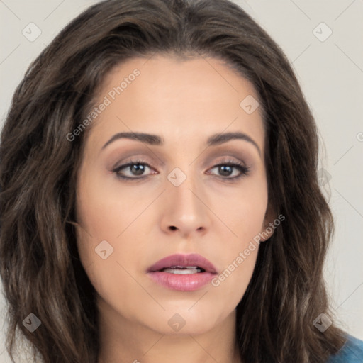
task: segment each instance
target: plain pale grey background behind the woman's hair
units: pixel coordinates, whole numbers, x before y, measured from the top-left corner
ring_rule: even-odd
[[[96,2],[0,0],[1,125],[30,62],[72,18]],[[363,0],[235,2],[284,50],[318,123],[322,188],[336,222],[325,277],[336,322],[363,340]],[[38,38],[30,41],[37,31]],[[2,296],[0,313],[5,328]],[[7,363],[1,334],[0,362]]]

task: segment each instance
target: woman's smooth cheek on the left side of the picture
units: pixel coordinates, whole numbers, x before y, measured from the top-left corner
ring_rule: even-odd
[[[138,256],[143,254],[143,243],[125,242],[140,240],[142,230],[137,217],[154,196],[140,198],[140,194],[130,194],[125,189],[118,189],[116,194],[99,175],[91,171],[84,171],[84,175],[77,185],[79,257],[99,296],[127,303],[125,291],[135,294],[135,281],[126,271],[130,270],[129,265],[137,264]]]

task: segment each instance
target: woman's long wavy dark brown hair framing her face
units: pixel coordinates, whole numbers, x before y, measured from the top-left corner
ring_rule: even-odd
[[[45,363],[96,363],[94,288],[79,261],[75,181],[87,129],[72,142],[102,80],[116,65],[155,53],[217,57],[250,80],[266,128],[269,203],[286,220],[259,248],[237,307],[246,363],[325,362],[344,342],[329,315],[323,262],[333,218],[318,185],[315,121],[289,61],[227,0],[108,0],[66,26],[30,65],[13,96],[0,146],[0,272],[16,331]],[[29,313],[41,321],[30,333]]]

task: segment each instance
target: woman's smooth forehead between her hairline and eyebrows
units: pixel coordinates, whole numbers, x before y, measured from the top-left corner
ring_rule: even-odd
[[[92,125],[97,132],[92,130],[91,137],[119,129],[162,132],[167,140],[167,134],[192,138],[242,129],[262,143],[257,99],[253,85],[216,58],[133,58],[105,77],[95,104],[107,106]]]

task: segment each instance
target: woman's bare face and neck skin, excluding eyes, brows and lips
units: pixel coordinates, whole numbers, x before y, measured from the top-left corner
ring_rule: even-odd
[[[97,293],[99,363],[240,362],[235,352],[235,308],[252,277],[258,248],[218,287],[174,291],[156,284],[146,270],[174,253],[198,253],[223,272],[272,222],[264,165],[260,109],[247,114],[240,102],[257,99],[250,82],[215,58],[179,60],[154,56],[119,65],[99,92],[99,103],[124,77],[140,75],[94,121],[77,180],[77,245]],[[163,145],[118,139],[116,133],[159,135]],[[213,134],[240,132],[246,140],[207,147]],[[143,160],[144,179],[125,181],[113,172]],[[223,174],[222,162],[250,168]],[[180,186],[167,176],[178,167]],[[133,174],[134,173],[134,174]],[[138,178],[130,167],[120,174]],[[102,240],[113,253],[102,259]],[[108,253],[108,252],[107,252]],[[168,324],[178,313],[181,330]]]

